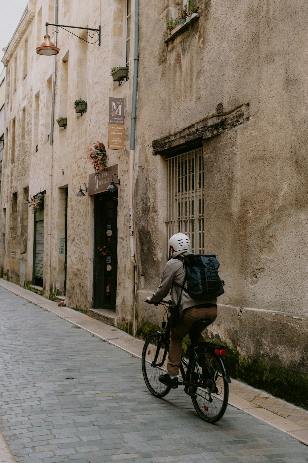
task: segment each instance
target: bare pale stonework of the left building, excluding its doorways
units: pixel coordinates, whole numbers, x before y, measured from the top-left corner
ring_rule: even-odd
[[[118,194],[118,288],[116,313],[121,318],[132,318],[133,265],[130,262],[128,228],[128,150],[130,136],[130,112],[132,79],[119,87],[113,82],[110,68],[124,65],[123,2],[59,1],[59,24],[95,27],[101,25],[102,42],[85,44],[77,37],[59,29],[56,56],[56,85],[54,106],[53,145],[47,140],[51,136],[51,92],[54,57],[39,56],[35,48],[46,33],[45,22],[54,23],[54,11],[50,11],[48,0],[31,1],[29,12],[12,38],[4,56],[8,72],[11,73],[7,106],[6,140],[7,157],[4,169],[4,193],[1,195],[1,210],[6,209],[6,249],[1,251],[4,276],[17,284],[19,259],[26,262],[25,282],[32,282],[34,216],[29,210],[27,251],[20,254],[24,188],[33,196],[40,188],[46,190],[44,210],[44,277],[45,294],[53,296],[64,290],[64,256],[59,254],[60,238],[64,238],[65,188],[68,190],[67,207],[67,280],[66,304],[86,309],[92,307],[93,257],[94,257],[94,198],[76,197],[82,182],[88,185],[88,176],[93,173],[86,159],[87,148],[102,141],[108,149],[109,97],[125,99],[125,150],[108,150],[108,166],[118,164],[121,188]],[[42,9],[41,9],[42,8]],[[124,8],[124,10],[123,10]],[[80,11],[83,11],[80,20]],[[134,12],[132,12],[132,15]],[[133,16],[132,16],[133,17]],[[80,24],[81,23],[81,24]],[[40,25],[41,24],[41,25]],[[73,31],[89,41],[85,31]],[[51,40],[55,40],[54,28],[48,27]],[[133,27],[132,27],[133,33]],[[21,79],[24,69],[24,40],[28,38],[27,75]],[[122,47],[122,48],[121,48]],[[132,49],[133,50],[133,49]],[[13,76],[17,68],[17,87],[13,91]],[[130,69],[133,67],[131,52]],[[73,102],[83,98],[87,101],[87,112],[82,116],[74,111]],[[22,142],[22,110],[25,107],[25,140]],[[56,119],[67,117],[67,128],[59,128]],[[15,162],[12,163],[12,119],[16,118]],[[36,152],[36,145],[37,152]],[[84,187],[83,187],[84,188]],[[12,194],[17,193],[17,236],[15,252],[9,249],[12,235]]]

